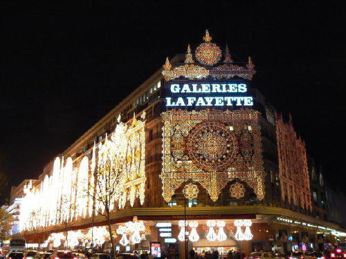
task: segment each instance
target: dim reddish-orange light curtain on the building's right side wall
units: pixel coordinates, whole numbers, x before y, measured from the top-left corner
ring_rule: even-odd
[[[281,115],[276,117],[277,153],[282,200],[289,204],[312,210],[310,179],[307,167],[305,143],[297,137],[291,117],[284,123]]]

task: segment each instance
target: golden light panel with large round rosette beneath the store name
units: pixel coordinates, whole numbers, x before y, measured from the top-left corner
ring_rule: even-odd
[[[232,180],[264,198],[264,169],[257,111],[170,110],[163,117],[163,198],[192,180],[216,201]]]

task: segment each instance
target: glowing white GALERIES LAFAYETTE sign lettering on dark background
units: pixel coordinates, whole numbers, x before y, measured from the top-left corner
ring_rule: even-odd
[[[171,84],[166,106],[253,106],[246,84]]]

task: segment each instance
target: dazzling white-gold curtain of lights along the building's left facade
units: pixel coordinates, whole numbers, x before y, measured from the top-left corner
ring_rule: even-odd
[[[131,125],[119,122],[104,144],[94,145],[91,158],[73,162],[71,157],[57,157],[51,175],[24,186],[19,229],[66,225],[90,217],[93,208],[96,214],[104,211],[102,198],[107,195],[110,211],[116,203],[125,207],[127,201],[133,207],[136,198],[143,204],[145,180],[145,122],[134,117]]]

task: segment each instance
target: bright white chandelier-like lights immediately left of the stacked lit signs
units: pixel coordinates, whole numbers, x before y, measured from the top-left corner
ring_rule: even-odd
[[[125,223],[124,225],[120,225],[118,229],[116,230],[116,233],[119,235],[122,235],[120,239],[120,244],[123,246],[126,246],[127,244],[138,244],[140,240],[145,239],[145,232],[147,229],[145,228],[145,225],[142,220],[134,220],[129,221]],[[142,233],[142,236],[140,236],[140,233]],[[127,234],[130,236],[129,239],[127,239]],[[144,235],[144,238],[143,238]]]

